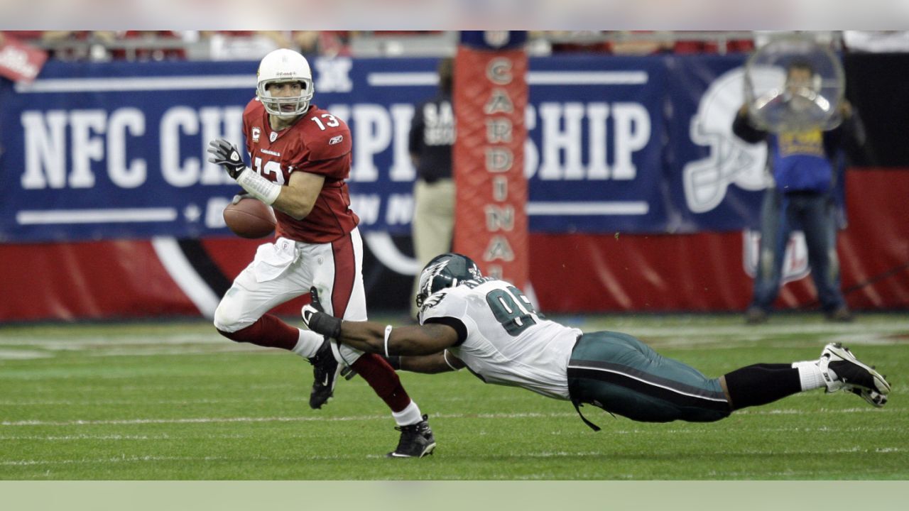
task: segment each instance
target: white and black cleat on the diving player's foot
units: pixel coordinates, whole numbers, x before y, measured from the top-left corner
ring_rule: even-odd
[[[884,406],[890,384],[872,366],[864,365],[841,343],[824,346],[818,361],[827,392],[847,390],[873,406]]]

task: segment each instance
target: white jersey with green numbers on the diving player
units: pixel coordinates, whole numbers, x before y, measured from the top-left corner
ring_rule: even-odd
[[[517,287],[484,277],[444,289],[426,299],[420,323],[454,326],[464,342],[448,351],[484,382],[569,399],[568,359],[581,331],[538,315]]]

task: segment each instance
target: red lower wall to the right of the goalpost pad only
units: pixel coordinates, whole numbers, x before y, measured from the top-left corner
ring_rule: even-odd
[[[909,309],[909,169],[846,173],[849,226],[840,232],[841,288],[854,310]],[[746,233],[531,236],[530,276],[544,312],[744,311],[754,280]],[[808,271],[774,304],[813,310]]]

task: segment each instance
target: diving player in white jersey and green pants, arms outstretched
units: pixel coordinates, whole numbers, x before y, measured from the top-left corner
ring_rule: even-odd
[[[458,254],[439,255],[424,268],[418,326],[342,321],[319,311],[315,289],[311,296],[303,308],[306,326],[383,355],[395,368],[439,373],[466,366],[485,383],[521,386],[638,421],[711,422],[815,388],[848,390],[884,406],[890,392],[884,376],[838,343],[824,346],[817,360],[755,364],[709,378],[633,336],[584,334],[545,319],[517,287],[482,276],[474,261]]]

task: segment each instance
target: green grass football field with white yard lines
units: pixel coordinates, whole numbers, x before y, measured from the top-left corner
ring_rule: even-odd
[[[383,318],[378,318],[383,319]],[[387,318],[385,318],[387,319]],[[482,384],[401,373],[438,447],[385,459],[398,433],[361,378],[322,410],[311,367],[207,323],[0,327],[0,479],[909,479],[909,318],[562,317],[638,336],[718,376],[842,341],[893,384],[883,409],[817,390],[713,424],[635,423]]]

